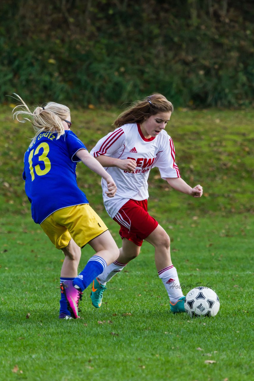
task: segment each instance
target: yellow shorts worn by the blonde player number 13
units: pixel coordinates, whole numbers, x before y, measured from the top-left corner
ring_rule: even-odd
[[[89,204],[56,210],[40,226],[57,249],[68,246],[71,238],[83,247],[108,230]]]

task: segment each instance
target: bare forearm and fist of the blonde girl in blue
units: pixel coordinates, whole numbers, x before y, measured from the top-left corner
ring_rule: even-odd
[[[102,165],[89,154],[86,149],[80,149],[75,154],[83,164],[88,166],[93,172],[99,174],[105,181],[107,181],[108,192],[105,192],[108,197],[114,197],[117,186],[112,177],[105,171]]]

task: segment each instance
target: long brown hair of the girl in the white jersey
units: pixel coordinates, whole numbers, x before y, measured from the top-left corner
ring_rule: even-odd
[[[127,123],[142,123],[151,115],[158,114],[159,112],[173,112],[173,110],[173,104],[165,96],[152,94],[142,99],[142,101],[134,102],[118,116],[114,125],[121,127]]]

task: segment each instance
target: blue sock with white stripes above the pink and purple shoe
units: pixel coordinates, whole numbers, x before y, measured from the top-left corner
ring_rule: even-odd
[[[85,269],[73,280],[73,286],[81,288],[81,291],[85,290],[106,267],[106,261],[98,255],[94,255],[89,259]]]

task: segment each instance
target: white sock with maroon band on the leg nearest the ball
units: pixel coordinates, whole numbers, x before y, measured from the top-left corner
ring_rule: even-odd
[[[184,296],[178,279],[176,267],[173,265],[165,267],[165,269],[158,271],[158,275],[167,290],[171,303],[176,303],[179,298]]]

